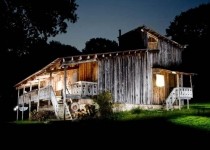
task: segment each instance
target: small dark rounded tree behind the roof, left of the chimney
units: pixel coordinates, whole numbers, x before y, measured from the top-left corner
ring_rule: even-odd
[[[117,51],[118,44],[115,41],[111,41],[105,38],[92,38],[86,42],[83,53],[105,53],[111,51]]]

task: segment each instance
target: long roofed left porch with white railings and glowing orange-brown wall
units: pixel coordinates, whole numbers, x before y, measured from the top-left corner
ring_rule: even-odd
[[[89,102],[98,93],[98,63],[93,59],[94,55],[88,57],[89,61],[81,56],[58,58],[16,84],[19,110],[27,106],[30,119],[32,105],[35,105],[37,112],[47,108],[55,112],[57,119],[72,119],[71,104],[80,99],[83,103]],[[67,62],[69,59],[71,61]],[[42,102],[46,104],[44,107],[40,105]],[[26,112],[18,113],[19,110],[17,120],[26,119]]]

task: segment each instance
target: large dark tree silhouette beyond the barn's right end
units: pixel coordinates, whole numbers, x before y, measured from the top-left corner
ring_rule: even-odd
[[[182,69],[198,74],[194,80],[194,97],[208,99],[210,96],[206,93],[209,91],[205,87],[210,84],[210,79],[203,66],[209,64],[210,3],[176,16],[166,33],[172,40],[187,45],[183,51]]]

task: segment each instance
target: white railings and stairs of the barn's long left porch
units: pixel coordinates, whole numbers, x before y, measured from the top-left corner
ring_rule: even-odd
[[[47,108],[48,110],[55,112],[55,116],[57,117],[57,119],[71,120],[71,105],[73,104],[72,100],[88,99],[94,95],[97,95],[96,82],[78,81],[76,83],[73,83],[70,85],[70,88],[66,88],[65,94],[63,93],[62,96],[57,96],[53,87],[51,85],[48,85],[40,89],[31,90],[29,92],[23,91],[23,94],[20,95],[18,98],[18,106],[28,106],[29,119],[30,113],[32,111],[31,104],[35,103],[37,107],[36,111],[46,110]],[[64,96],[66,97],[65,99]],[[41,101],[47,102],[47,105],[45,105],[44,107],[40,106]],[[22,111],[22,120],[24,119],[23,116],[24,111]]]

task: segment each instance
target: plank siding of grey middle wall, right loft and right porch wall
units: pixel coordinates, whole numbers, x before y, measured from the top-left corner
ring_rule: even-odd
[[[182,50],[163,40],[158,40],[158,47],[159,52],[149,50],[100,59],[99,92],[110,91],[114,102],[119,103],[162,104],[176,81],[171,81],[171,74],[162,72],[165,86],[158,88],[152,68],[180,64]]]

